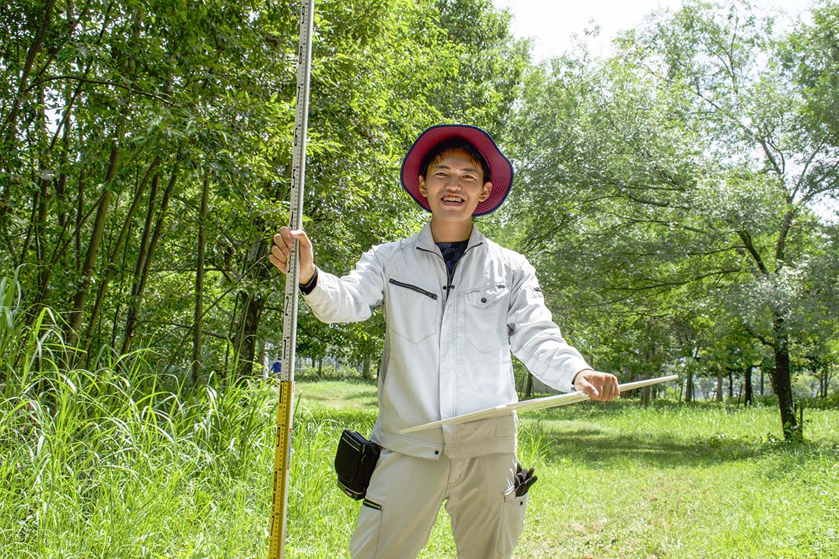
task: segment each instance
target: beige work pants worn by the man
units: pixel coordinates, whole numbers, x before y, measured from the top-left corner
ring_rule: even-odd
[[[459,559],[509,559],[524,528],[527,495],[516,497],[513,454],[452,460],[385,448],[350,539],[353,559],[411,559],[428,541],[446,501]]]

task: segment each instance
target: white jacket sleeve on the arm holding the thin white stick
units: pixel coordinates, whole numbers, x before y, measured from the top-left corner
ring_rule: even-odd
[[[513,355],[546,385],[570,392],[574,375],[590,368],[590,365],[562,337],[550,310],[545,306],[534,267],[522,256],[521,264],[513,270],[508,312]]]

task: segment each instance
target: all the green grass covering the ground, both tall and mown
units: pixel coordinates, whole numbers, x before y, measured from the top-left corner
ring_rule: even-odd
[[[269,381],[190,388],[144,357],[68,355],[44,310],[0,285],[0,556],[266,557],[277,396]],[[3,291],[5,289],[6,291]],[[332,471],[369,432],[376,388],[297,384],[286,549],[347,557],[358,504]],[[535,466],[516,556],[839,558],[839,410],[780,441],[774,406],[584,403],[522,417]],[[446,513],[421,557],[455,557]]]

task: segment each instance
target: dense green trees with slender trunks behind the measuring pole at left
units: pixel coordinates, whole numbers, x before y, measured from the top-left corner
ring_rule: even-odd
[[[253,340],[279,341],[266,256],[288,221],[298,12],[259,0],[7,7],[0,266],[29,264],[26,302],[65,313],[71,360],[152,344],[189,365],[200,274],[204,370],[249,374]],[[500,132],[526,60],[487,1],[318,3],[305,224],[324,269],[347,272],[416,229],[423,215],[398,194],[410,142],[436,122]],[[380,321],[309,329],[342,336],[331,345],[352,360],[382,337]]]

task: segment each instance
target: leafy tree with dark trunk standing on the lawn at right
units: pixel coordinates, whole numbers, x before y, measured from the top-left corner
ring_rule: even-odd
[[[597,305],[711,323],[722,305],[736,310],[772,350],[792,439],[789,345],[823,228],[810,205],[835,192],[837,152],[802,126],[774,36],[748,4],[686,3],[625,34],[611,60],[536,70],[517,113],[515,218],[531,245],[552,247],[590,323]]]

